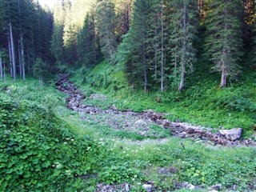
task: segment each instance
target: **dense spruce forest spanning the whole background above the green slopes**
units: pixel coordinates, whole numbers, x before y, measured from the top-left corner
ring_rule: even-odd
[[[254,0],[62,0],[52,10],[0,3],[1,78],[106,59],[130,86],[164,91],[182,90],[198,63],[219,74],[221,87],[255,65]]]

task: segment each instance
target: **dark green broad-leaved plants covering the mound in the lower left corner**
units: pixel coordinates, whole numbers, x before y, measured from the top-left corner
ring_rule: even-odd
[[[33,104],[0,101],[1,190],[66,190],[95,169],[98,146]],[[79,180],[79,179],[78,179]]]

